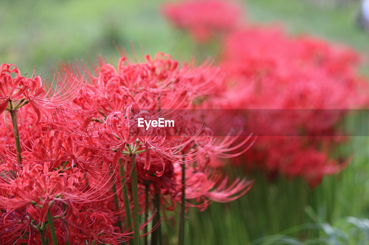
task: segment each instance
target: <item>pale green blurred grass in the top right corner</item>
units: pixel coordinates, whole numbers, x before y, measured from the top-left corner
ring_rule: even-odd
[[[254,21],[283,23],[292,33],[312,33],[368,52],[369,35],[355,25],[358,2],[341,9],[303,0],[249,0],[246,6]]]

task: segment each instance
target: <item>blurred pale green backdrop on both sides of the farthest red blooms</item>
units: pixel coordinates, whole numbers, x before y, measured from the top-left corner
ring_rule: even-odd
[[[141,55],[196,55],[194,44],[166,21],[163,1],[1,1],[0,57],[22,71],[49,72],[56,60],[117,55],[114,43]],[[290,33],[311,33],[368,50],[368,34],[357,27],[359,0],[242,1],[248,19],[277,22]]]

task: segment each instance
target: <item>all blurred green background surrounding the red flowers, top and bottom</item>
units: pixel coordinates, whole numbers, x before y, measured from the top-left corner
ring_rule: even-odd
[[[199,47],[160,13],[162,1],[3,0],[0,7],[0,61],[22,72],[50,74],[56,60],[117,57],[116,46],[137,57],[164,52],[179,60],[215,56]],[[248,0],[241,6],[252,22],[278,23],[291,34],[309,33],[353,47],[364,59],[369,33],[359,0]],[[134,50],[134,51],[133,51]],[[216,57],[215,57],[216,58]],[[361,67],[368,75],[368,63]],[[349,120],[352,131],[368,128],[366,118]],[[356,134],[359,135],[359,134]],[[351,137],[337,149],[351,156],[341,173],[311,189],[295,178],[270,182],[254,173],[255,184],[231,203],[189,210],[186,244],[369,244],[369,140]],[[229,170],[236,171],[234,169]],[[172,220],[163,227],[176,243]]]

